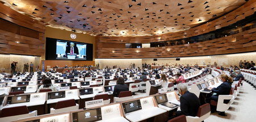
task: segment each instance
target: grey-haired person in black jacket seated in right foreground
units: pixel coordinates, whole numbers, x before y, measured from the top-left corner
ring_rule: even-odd
[[[177,90],[179,91],[180,96],[180,110],[174,112],[174,115],[180,116],[196,116],[197,110],[200,106],[200,100],[195,94],[189,92],[187,86],[184,83],[179,83],[177,85]]]

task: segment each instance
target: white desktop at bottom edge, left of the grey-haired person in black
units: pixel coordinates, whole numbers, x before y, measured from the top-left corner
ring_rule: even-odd
[[[144,110],[138,110],[131,113],[126,113],[125,116],[126,116],[126,119],[132,122],[135,122],[135,121],[146,120],[148,118],[154,117],[156,115],[160,115],[165,112],[166,110],[163,110],[162,108],[152,107]]]

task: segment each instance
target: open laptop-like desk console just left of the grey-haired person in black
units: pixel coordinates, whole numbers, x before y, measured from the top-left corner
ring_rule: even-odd
[[[168,102],[166,94],[157,95],[157,96],[155,96],[155,99],[156,99],[156,102],[158,102],[158,104],[160,104],[162,106],[166,106],[169,108],[179,107],[178,104]]]

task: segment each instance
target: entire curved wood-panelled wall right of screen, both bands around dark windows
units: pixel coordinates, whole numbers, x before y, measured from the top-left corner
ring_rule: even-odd
[[[238,9],[222,16],[212,22],[205,23],[190,30],[168,33],[158,36],[143,37],[108,37],[97,36],[96,58],[163,58],[163,57],[187,57],[207,56],[214,54],[229,54],[256,51],[256,28],[243,31],[235,35],[221,37],[219,39],[203,41],[193,44],[175,45],[170,47],[152,48],[125,48],[125,43],[151,43],[156,41],[168,41],[184,39],[187,37],[202,35],[217,30],[245,19],[256,11],[256,0],[251,0]],[[159,37],[161,39],[159,40]],[[118,45],[116,45],[118,43]],[[113,45],[113,46],[111,46]]]

